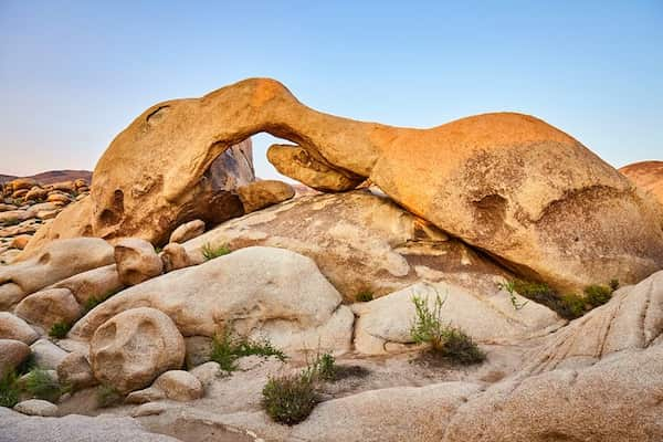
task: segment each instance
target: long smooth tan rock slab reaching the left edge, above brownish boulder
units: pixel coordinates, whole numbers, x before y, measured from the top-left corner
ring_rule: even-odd
[[[53,241],[34,257],[0,267],[0,308],[8,308],[57,281],[113,261],[113,246],[104,240],[77,238]]]

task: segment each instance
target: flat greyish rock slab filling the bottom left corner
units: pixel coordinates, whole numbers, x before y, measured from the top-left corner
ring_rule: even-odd
[[[0,407],[2,438],[12,442],[178,442],[162,434],[152,434],[133,418],[108,414],[91,418],[70,414],[59,419],[25,417]]]

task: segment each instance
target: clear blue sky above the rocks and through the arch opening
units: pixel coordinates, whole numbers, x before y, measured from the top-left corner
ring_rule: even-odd
[[[92,169],[151,104],[250,76],[356,119],[515,110],[613,166],[663,159],[662,0],[0,0],[0,173]]]

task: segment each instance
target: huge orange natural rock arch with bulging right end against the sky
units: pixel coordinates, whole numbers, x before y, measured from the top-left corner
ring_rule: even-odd
[[[369,178],[412,213],[558,288],[634,282],[663,267],[659,208],[540,119],[497,113],[430,129],[362,123],[311,109],[269,78],[160,103],[136,118],[95,168],[94,234],[159,243],[173,225],[204,219],[192,215],[209,189],[206,171],[261,131],[295,144],[267,154],[291,178],[334,191]],[[233,203],[214,207],[228,214]]]

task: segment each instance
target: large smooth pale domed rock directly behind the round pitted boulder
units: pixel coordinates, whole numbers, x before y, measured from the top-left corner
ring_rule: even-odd
[[[90,339],[120,312],[150,306],[185,336],[214,336],[232,326],[283,349],[350,346],[354,316],[315,263],[282,249],[246,248],[204,264],[167,273],[118,293],[70,333]]]

